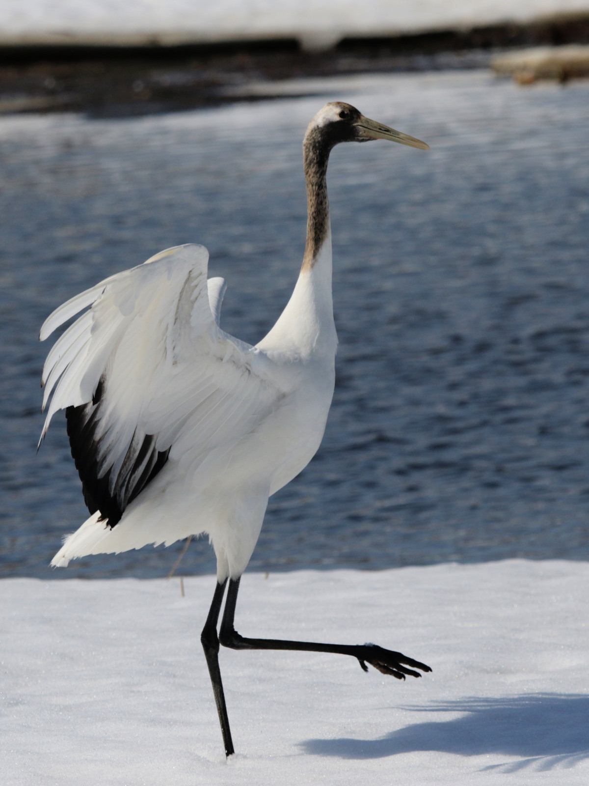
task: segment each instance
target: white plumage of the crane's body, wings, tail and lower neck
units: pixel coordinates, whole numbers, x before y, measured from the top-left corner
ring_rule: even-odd
[[[95,512],[53,565],[207,532],[219,580],[236,577],[269,494],[316,452],[334,384],[331,250],[301,274],[256,347],[219,328],[225,281],[207,282],[207,261],[203,246],[170,248],[68,300],[42,326],[45,339],[91,304],[47,358],[43,435],[57,410],[92,408],[103,380],[92,439],[98,476],[110,472],[109,490],[124,510],[112,529]],[[155,450],[170,451],[168,460],[125,507],[148,461],[136,461],[147,435],[155,436]]]

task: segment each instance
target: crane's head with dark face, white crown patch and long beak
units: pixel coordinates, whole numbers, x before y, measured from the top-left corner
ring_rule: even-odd
[[[375,120],[364,117],[356,107],[343,101],[331,101],[316,113],[305,134],[305,139],[313,137],[320,137],[324,145],[327,144],[329,148],[338,145],[339,142],[388,139],[421,150],[430,149],[430,145],[426,145],[420,139],[401,134],[401,131],[396,131],[382,123],[376,123]]]

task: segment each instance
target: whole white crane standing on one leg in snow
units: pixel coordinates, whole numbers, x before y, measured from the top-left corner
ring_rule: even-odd
[[[342,141],[425,143],[327,104],[303,142],[308,222],[291,299],[255,347],[219,326],[225,282],[207,281],[207,249],[169,248],[101,281],[49,316],[54,329],[88,308],[49,352],[43,406],[66,410],[71,452],[90,518],[65,539],[54,566],[97,553],[169,545],[207,533],[217,589],[201,639],[227,755],[233,752],[218,667],[232,648],[340,652],[403,678],[425,664],[376,645],[241,637],[233,627],[240,576],[271,494],[309,463],[324,434],[335,381],[327,160]],[[218,616],[229,582],[218,634]]]

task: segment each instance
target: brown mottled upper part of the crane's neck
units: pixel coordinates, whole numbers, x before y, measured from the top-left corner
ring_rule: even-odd
[[[307,241],[302,270],[311,270],[329,234],[327,161],[332,147],[333,141],[320,127],[309,130],[302,143],[307,184]]]

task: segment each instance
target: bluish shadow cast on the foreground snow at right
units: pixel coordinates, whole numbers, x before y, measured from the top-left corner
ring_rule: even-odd
[[[463,712],[451,721],[428,721],[398,729],[378,740],[306,740],[307,753],[340,758],[382,758],[414,751],[461,756],[499,754],[517,762],[484,769],[514,772],[527,766],[547,770],[589,758],[589,696],[538,693],[503,699],[471,698],[417,712]]]

